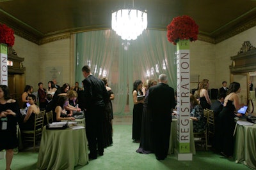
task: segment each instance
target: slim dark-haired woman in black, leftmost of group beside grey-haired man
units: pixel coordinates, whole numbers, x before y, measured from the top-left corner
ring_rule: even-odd
[[[133,83],[132,98],[133,98],[133,117],[132,117],[132,139],[133,143],[140,143],[141,120],[143,112],[144,100],[138,100],[137,96],[143,96],[142,81],[136,80]]]

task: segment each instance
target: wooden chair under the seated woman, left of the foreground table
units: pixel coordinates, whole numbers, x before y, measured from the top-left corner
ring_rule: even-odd
[[[33,142],[34,152],[36,149],[36,138],[40,138],[42,135],[42,129],[44,126],[45,110],[35,114],[35,125],[33,131],[21,131],[23,141]]]

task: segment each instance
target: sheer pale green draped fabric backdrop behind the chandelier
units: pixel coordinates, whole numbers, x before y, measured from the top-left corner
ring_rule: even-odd
[[[157,80],[164,73],[176,89],[176,46],[168,42],[166,31],[146,30],[134,41],[124,41],[109,29],[77,33],[75,52],[76,81],[84,80],[85,65],[94,76],[108,78],[115,94],[114,115],[132,115],[135,80]]]

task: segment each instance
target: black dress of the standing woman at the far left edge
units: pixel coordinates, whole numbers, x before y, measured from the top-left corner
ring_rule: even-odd
[[[17,121],[20,118],[19,104],[15,103],[6,103],[0,104],[0,113],[1,111],[12,110],[16,113],[16,117],[12,115],[7,115],[6,118],[0,118],[0,151],[17,148],[18,139],[17,139]],[[7,129],[2,130],[3,122],[7,122]]]

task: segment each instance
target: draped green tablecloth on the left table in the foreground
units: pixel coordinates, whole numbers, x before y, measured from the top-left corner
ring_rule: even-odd
[[[84,126],[83,124],[79,124]],[[74,169],[88,163],[88,142],[85,129],[71,128],[42,132],[38,153],[38,169]]]

